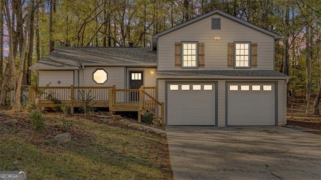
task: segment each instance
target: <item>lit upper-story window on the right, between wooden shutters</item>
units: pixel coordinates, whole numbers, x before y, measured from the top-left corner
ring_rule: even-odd
[[[235,68],[250,68],[250,42],[235,42],[234,52],[235,52]]]

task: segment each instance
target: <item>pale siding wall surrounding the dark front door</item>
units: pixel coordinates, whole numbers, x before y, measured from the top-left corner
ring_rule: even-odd
[[[152,87],[156,85],[156,69],[155,68],[128,68],[127,69],[127,85],[129,84],[129,71],[143,71],[143,84],[145,87]]]

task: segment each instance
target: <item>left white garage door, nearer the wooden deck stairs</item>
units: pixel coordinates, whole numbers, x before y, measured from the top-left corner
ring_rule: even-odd
[[[215,125],[215,84],[168,84],[167,124]]]

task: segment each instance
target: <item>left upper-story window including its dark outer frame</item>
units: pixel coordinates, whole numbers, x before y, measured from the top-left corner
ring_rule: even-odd
[[[186,45],[186,46],[185,46]],[[195,45],[195,48],[193,48]],[[199,42],[198,41],[182,41],[181,42],[182,68],[198,68],[199,62]],[[193,66],[195,57],[195,65]],[[187,60],[186,60],[187,58]],[[189,62],[191,62],[189,64]]]

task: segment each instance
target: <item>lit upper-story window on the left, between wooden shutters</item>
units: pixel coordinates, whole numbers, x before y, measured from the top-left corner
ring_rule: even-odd
[[[198,42],[182,42],[182,67],[197,68]]]

